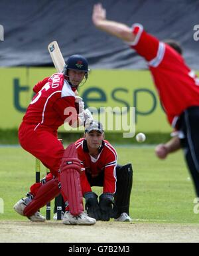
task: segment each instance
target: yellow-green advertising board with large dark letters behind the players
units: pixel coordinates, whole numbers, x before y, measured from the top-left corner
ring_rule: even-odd
[[[54,68],[0,68],[0,128],[19,126],[33,97],[34,84],[53,72]],[[92,70],[79,94],[84,98],[86,108],[98,110],[95,118],[105,118],[106,126],[111,122],[107,114],[111,111],[113,119],[115,117],[113,130],[115,123],[123,123],[119,113],[124,116],[134,113],[137,131],[171,131],[148,70]],[[60,129],[64,131],[63,127]],[[116,132],[121,130],[116,129]]]

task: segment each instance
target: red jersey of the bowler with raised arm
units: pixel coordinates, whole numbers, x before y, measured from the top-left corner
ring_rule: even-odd
[[[199,79],[180,54],[147,34],[142,25],[134,24],[132,33],[135,41],[129,45],[149,64],[168,121],[174,125],[186,108],[199,106]]]

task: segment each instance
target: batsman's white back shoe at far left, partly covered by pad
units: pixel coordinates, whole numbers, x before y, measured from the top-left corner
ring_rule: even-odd
[[[13,208],[15,209],[15,211],[17,211],[17,213],[24,216],[23,211],[29,203],[31,203],[31,198],[25,197],[25,198],[20,199],[17,203],[15,203]],[[32,216],[28,217],[28,219],[31,219],[31,221],[45,221],[46,220],[46,218],[44,216],[42,216],[38,211],[36,211],[36,213],[34,213]]]

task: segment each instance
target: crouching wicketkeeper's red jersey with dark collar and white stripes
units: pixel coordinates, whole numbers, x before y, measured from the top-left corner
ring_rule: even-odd
[[[86,173],[90,174],[92,178],[96,178],[101,172],[104,172],[103,193],[115,193],[117,152],[113,146],[107,140],[103,140],[99,149],[98,159],[95,159],[88,153],[87,143],[84,138],[77,140],[75,144],[82,168],[80,180],[83,195],[92,191]]]

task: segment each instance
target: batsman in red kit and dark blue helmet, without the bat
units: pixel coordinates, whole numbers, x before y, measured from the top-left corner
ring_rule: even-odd
[[[90,111],[84,110],[82,99],[75,94],[88,78],[88,61],[81,55],[72,55],[63,69],[62,73],[52,74],[34,86],[36,94],[19,127],[21,146],[38,158],[54,178],[33,184],[27,197],[19,200],[14,209],[31,221],[44,221],[38,209],[61,192],[69,204],[63,223],[92,225],[96,219],[84,213],[76,146],[71,144],[64,150],[57,134],[64,122],[78,127],[93,120]]]

